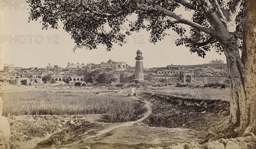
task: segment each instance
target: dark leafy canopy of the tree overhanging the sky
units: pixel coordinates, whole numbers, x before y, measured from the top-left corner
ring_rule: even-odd
[[[224,25],[233,19],[237,25],[235,28],[241,33],[244,5],[241,0],[28,0],[28,3],[31,7],[29,20],[41,17],[42,29],[57,29],[58,22],[62,22],[63,29],[76,43],[74,50],[84,47],[96,49],[102,44],[110,51],[113,43],[122,46],[128,35],[143,29],[150,32],[150,42],[156,43],[168,35],[167,30],[172,29],[181,37],[176,45],[185,45],[202,57],[211,48],[223,51],[214,37],[212,22],[207,20],[211,17],[208,11],[215,11]],[[176,14],[177,8],[193,13],[192,20]],[[231,12],[235,17],[232,18]],[[137,20],[130,21],[130,16]],[[179,23],[190,25],[190,30],[186,31]]]

